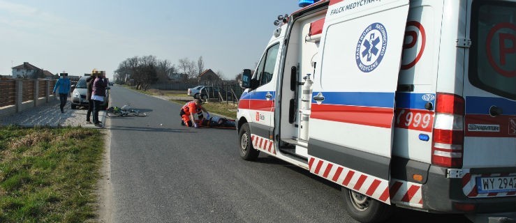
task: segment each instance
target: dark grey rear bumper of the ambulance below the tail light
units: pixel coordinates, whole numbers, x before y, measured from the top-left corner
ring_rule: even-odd
[[[499,169],[503,171],[503,169]],[[513,213],[516,197],[466,197],[462,178],[446,178],[447,168],[430,166],[422,186],[423,208],[438,213]],[[513,171],[507,168],[505,171]]]

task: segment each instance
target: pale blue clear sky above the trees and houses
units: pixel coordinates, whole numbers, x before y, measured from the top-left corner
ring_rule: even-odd
[[[179,59],[234,79],[253,69],[278,15],[297,0],[0,0],[0,75],[24,62],[82,76],[133,56]]]

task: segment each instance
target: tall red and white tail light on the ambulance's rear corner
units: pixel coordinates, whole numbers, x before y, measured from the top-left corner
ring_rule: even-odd
[[[464,98],[437,93],[432,164],[441,167],[462,167],[464,156]]]

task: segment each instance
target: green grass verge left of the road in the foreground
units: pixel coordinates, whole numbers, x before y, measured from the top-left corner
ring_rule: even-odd
[[[93,220],[103,150],[99,130],[0,127],[0,222]]]

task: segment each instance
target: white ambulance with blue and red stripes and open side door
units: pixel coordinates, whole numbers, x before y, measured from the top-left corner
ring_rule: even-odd
[[[242,73],[239,153],[337,183],[351,217],[516,213],[516,1],[321,0]]]

